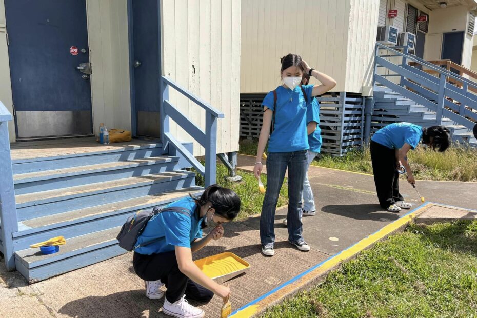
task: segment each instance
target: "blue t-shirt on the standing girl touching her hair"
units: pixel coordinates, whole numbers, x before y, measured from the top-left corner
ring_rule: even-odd
[[[313,85],[302,86],[308,98],[311,98]],[[307,150],[306,110],[308,105],[300,86],[292,91],[283,86],[276,88],[276,110],[273,107],[273,91],[269,92],[262,107],[275,112],[275,124],[268,143],[269,152],[292,152]]]

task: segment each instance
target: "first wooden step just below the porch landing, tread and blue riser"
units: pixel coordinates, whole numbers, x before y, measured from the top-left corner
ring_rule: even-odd
[[[48,191],[112,181],[143,174],[171,171],[176,168],[178,157],[148,157],[128,161],[69,167],[55,170],[15,174],[16,194]]]

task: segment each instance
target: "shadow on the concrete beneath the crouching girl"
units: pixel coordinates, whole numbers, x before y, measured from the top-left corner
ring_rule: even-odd
[[[205,303],[188,300],[193,306]],[[168,317],[162,312],[164,298],[150,300],[144,295],[144,289],[117,292],[107,296],[88,296],[65,304],[59,314],[77,318],[92,317],[143,317],[149,311],[149,317]],[[160,311],[161,310],[161,311]],[[97,315],[101,312],[101,315]]]

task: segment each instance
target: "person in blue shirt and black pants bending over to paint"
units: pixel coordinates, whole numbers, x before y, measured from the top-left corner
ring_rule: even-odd
[[[390,212],[411,208],[411,204],[405,202],[399,193],[398,169],[404,166],[407,181],[415,184],[407,153],[418,146],[421,138],[424,145],[440,152],[445,151],[451,143],[449,129],[444,126],[423,128],[410,123],[387,125],[371,138],[371,162],[377,198],[381,207]]]

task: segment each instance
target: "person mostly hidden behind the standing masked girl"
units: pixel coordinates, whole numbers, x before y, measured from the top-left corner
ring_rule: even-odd
[[[310,81],[310,75],[303,73],[302,84],[308,85]],[[311,97],[311,107],[306,109],[306,129],[308,134],[308,145],[310,149],[306,154],[308,169],[311,162],[314,158],[320,153],[322,138],[321,138],[321,129],[320,129],[320,105],[318,100],[314,97]],[[312,216],[316,214],[315,200],[313,196],[313,191],[311,189],[310,181],[308,180],[308,170],[305,174],[305,182],[303,183],[303,191],[301,192],[300,197],[302,198],[302,216]],[[283,225],[287,226],[288,221],[285,218],[283,220]]]

